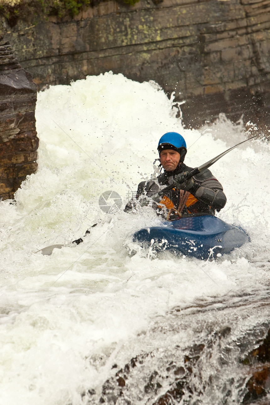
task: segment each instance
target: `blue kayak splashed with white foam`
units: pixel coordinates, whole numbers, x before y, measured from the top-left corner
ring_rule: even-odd
[[[161,226],[141,229],[133,241],[156,251],[169,250],[207,260],[232,252],[250,241],[249,235],[213,215],[183,217],[162,222]]]

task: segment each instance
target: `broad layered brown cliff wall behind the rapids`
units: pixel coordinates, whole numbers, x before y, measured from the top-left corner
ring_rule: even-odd
[[[220,112],[269,124],[270,0],[108,0],[5,27],[39,89],[113,70],[174,91],[186,124]]]

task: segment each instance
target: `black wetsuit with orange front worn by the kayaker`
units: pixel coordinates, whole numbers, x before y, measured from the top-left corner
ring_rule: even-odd
[[[130,200],[124,211],[136,212],[141,207],[151,206],[159,215],[161,214],[171,220],[179,219],[177,210],[179,210],[181,198],[183,198],[185,192],[181,191],[181,189],[178,190],[174,186],[172,190],[162,193],[162,188],[173,184],[174,175],[191,172],[192,170],[192,167],[180,163],[174,171],[164,170],[164,173],[155,179],[142,181],[138,185],[136,197]],[[208,169],[194,176],[193,180],[194,185],[188,190],[190,194],[185,194],[188,199],[181,210],[181,216],[200,215],[202,213],[215,215],[215,211],[220,211],[226,204],[226,197],[221,183]]]

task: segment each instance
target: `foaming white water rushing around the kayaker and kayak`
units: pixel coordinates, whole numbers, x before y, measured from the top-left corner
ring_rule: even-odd
[[[188,148],[198,139],[185,160],[194,167],[246,139],[247,128],[224,117],[200,137],[203,130],[182,127],[172,105],[154,83],[111,73],[38,94],[38,172],[17,191],[16,204],[0,202],[1,404],[85,404],[81,393],[89,389],[96,392],[91,403],[98,403],[102,384],[130,358],[157,347],[166,351],[169,345],[198,343],[203,328],[197,333],[195,325],[230,324],[239,337],[266,319],[262,309],[214,311],[202,318],[191,314],[181,320],[184,329],[177,321],[177,333],[166,338],[156,332],[176,322],[169,315],[175,307],[185,312],[198,302],[230,305],[232,297],[266,294],[268,143],[249,141],[211,168],[227,196],[218,215],[251,237],[250,244],[217,262],[169,254],[130,258],[123,246],[135,230],[157,221],[155,213],[107,215],[98,206],[104,191],[115,190],[124,207],[138,183],[153,173],[157,142],[165,132],[183,134]],[[54,249],[51,256],[35,253],[68,244],[97,222],[84,243]],[[115,363],[118,368],[112,369]],[[213,403],[212,391],[205,404]]]

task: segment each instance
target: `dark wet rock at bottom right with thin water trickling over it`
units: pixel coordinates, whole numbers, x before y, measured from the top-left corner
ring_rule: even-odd
[[[261,332],[266,332],[265,327],[266,324],[261,326]],[[184,349],[178,345],[165,351],[161,349],[162,356],[158,349],[140,354],[116,373],[112,371],[112,376],[102,386],[101,395],[90,388],[83,391],[81,397],[89,405],[268,405],[270,331],[260,345],[254,341],[255,349],[241,358],[241,352],[246,352],[249,346],[248,335],[254,332],[256,328],[247,332],[247,341],[235,341],[235,336],[230,340],[232,329],[226,326],[204,343]],[[235,344],[238,350],[234,351]],[[112,369],[117,369],[117,364]],[[212,396],[213,392],[217,392],[217,396]]]

